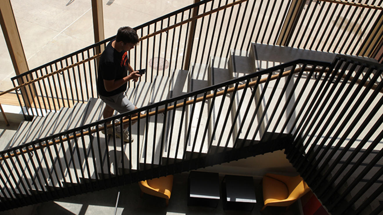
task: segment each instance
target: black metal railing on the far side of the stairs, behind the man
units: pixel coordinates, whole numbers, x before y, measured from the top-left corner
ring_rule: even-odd
[[[371,53],[358,53],[358,49],[363,46],[362,38],[367,37],[373,27],[370,23],[377,21],[380,13],[371,8],[359,10],[350,5],[309,1],[296,9],[301,15],[291,20],[289,10],[295,8],[296,3],[248,0],[185,22],[229,3],[234,1],[203,0],[137,26],[137,34],[146,39],[128,52],[131,65],[134,69],[147,68],[144,80],[152,82],[156,75],[170,75],[175,69],[208,64],[210,56],[227,58],[231,49],[249,50],[252,42],[280,45],[278,39],[285,37],[288,37],[286,44],[282,44],[285,46],[369,56]],[[375,4],[376,1],[365,3]],[[339,14],[336,21],[328,17],[330,13],[331,17],[334,13]],[[346,15],[340,16],[343,13]],[[182,25],[177,25],[179,23]],[[286,23],[292,23],[296,28],[288,31]],[[309,27],[318,26],[318,23],[318,28]],[[347,23],[345,27],[344,23]],[[147,38],[170,26],[175,27]],[[376,34],[376,38],[381,36]],[[98,50],[103,50],[111,39],[113,37],[13,77],[11,80],[17,87],[59,71],[23,87],[22,90],[33,92],[31,97],[21,97],[16,92],[25,117],[43,116],[46,112],[72,107],[76,102],[87,102],[90,97],[97,97]]]

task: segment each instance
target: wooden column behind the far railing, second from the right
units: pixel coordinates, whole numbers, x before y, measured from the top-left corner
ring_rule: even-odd
[[[290,41],[298,18],[302,13],[304,2],[306,2],[306,0],[293,0],[291,2],[276,45],[286,46],[286,44]]]

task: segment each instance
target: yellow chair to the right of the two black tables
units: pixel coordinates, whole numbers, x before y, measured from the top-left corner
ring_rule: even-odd
[[[266,174],[262,180],[262,190],[265,206],[289,207],[296,200],[309,192],[310,188],[301,176],[282,176]],[[287,210],[286,208],[286,210]]]

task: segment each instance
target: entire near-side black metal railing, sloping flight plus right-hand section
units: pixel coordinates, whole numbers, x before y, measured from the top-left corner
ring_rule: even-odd
[[[332,64],[293,61],[2,151],[2,207],[285,148],[331,213],[358,214],[382,193],[381,168],[374,169],[382,155],[382,69],[345,56]],[[133,143],[115,137],[121,121],[129,125]],[[111,136],[101,133],[108,126]],[[370,194],[371,186],[378,188]],[[350,190],[356,194],[344,203]],[[354,210],[349,207],[356,203]]]

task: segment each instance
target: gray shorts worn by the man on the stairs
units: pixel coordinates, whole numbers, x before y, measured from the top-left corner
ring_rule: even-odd
[[[100,96],[101,100],[103,100],[109,107],[113,108],[119,113],[128,112],[136,108],[136,106],[133,105],[133,103],[129,101],[128,98],[126,98],[124,92],[108,97],[102,95],[98,96]]]

